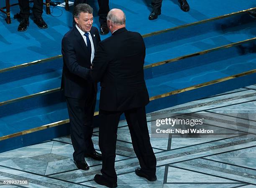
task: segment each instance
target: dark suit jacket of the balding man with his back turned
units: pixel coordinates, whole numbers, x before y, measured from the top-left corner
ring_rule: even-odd
[[[141,35],[125,28],[98,44],[92,79],[100,82],[100,109],[121,111],[149,103],[143,72],[145,54]]]

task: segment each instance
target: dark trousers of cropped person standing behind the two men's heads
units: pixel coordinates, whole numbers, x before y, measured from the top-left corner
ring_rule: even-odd
[[[74,6],[76,6],[79,3],[88,4],[88,0],[75,0]],[[109,12],[109,0],[98,0],[98,4],[99,4],[98,16],[99,16],[100,24],[106,24],[107,15]]]

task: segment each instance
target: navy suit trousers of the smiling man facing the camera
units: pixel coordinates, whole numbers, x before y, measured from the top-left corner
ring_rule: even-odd
[[[74,160],[84,161],[84,154],[95,151],[92,143],[93,115],[96,93],[93,89],[86,99],[67,99],[70,121],[70,135],[74,148]]]

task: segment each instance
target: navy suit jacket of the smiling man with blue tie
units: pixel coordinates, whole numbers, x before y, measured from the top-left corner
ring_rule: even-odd
[[[95,27],[91,28],[90,33],[96,52],[96,46],[100,42],[100,34]],[[95,86],[97,93],[97,83],[93,83],[90,77],[91,59],[89,51],[82,35],[75,26],[64,35],[61,42],[61,52],[63,55],[61,89],[64,89],[64,95],[77,99],[86,98],[93,86]]]

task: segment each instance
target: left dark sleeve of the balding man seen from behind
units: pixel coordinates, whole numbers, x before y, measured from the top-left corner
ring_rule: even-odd
[[[100,82],[107,67],[108,67],[108,55],[104,50],[103,43],[100,42],[97,45],[96,54],[92,61],[92,80],[94,82]]]

